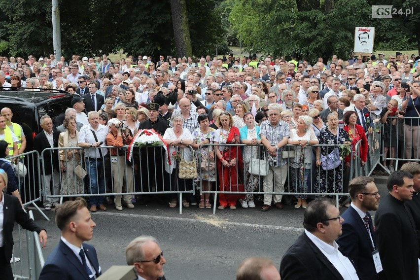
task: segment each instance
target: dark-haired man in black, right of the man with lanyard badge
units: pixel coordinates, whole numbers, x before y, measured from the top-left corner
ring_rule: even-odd
[[[404,203],[413,199],[413,175],[395,171],[386,181],[388,194],[375,214],[383,280],[419,279],[419,245],[413,216]],[[418,213],[417,213],[418,214]]]

